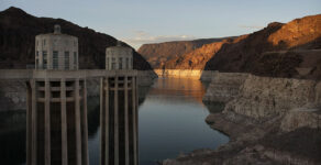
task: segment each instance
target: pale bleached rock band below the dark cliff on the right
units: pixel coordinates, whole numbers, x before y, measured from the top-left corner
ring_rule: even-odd
[[[281,130],[289,131],[317,127],[320,97],[321,81],[318,80],[215,73],[203,101],[224,102],[223,113],[236,113],[257,121],[285,117]]]

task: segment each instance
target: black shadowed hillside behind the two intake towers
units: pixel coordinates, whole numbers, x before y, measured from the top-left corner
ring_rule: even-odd
[[[0,12],[0,68],[33,65],[35,35],[52,33],[55,24],[63,33],[78,37],[80,69],[104,68],[106,47],[117,45],[114,37],[62,19],[36,18],[13,7]],[[133,62],[135,69],[152,69],[136,52]]]

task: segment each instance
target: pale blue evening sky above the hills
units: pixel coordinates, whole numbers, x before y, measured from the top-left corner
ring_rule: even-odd
[[[0,0],[0,11],[10,7],[88,26],[134,48],[242,35],[321,13],[321,0]]]

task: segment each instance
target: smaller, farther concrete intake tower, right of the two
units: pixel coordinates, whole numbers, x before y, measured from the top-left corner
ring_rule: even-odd
[[[132,50],[120,43],[106,51],[106,69],[115,75],[101,78],[100,85],[101,165],[139,163],[137,85],[132,62]]]

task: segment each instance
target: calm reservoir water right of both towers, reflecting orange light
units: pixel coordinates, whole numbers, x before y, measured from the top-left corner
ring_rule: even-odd
[[[158,79],[140,107],[140,164],[174,158],[196,148],[215,148],[229,138],[204,122],[204,87],[196,79]]]

